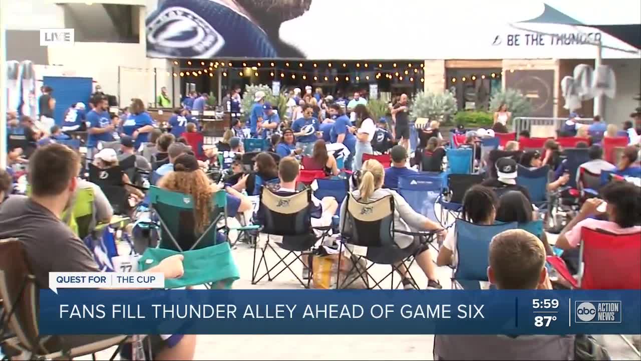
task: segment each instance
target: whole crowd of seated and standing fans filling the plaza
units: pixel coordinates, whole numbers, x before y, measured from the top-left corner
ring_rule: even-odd
[[[148,172],[150,184],[188,194],[194,199],[195,233],[203,233],[211,222],[211,199],[217,191],[226,192],[226,211],[233,217],[253,209],[249,196],[260,195],[263,187],[272,189],[276,195],[291,195],[299,191],[297,180],[301,170],[322,171],[324,177],[351,177],[355,181],[350,189],[350,197],[365,203],[387,196],[394,199],[394,229],[406,232],[433,231],[437,235],[442,246],[435,261],[427,245],[413,236],[398,233],[394,243],[395,247],[408,251],[415,258],[428,279],[425,288],[442,288],[436,275],[436,265],[456,268],[462,261],[457,254],[456,229],[447,229],[418,213],[396,189],[399,177],[420,172],[447,172],[447,139],[444,138],[449,137],[443,134],[447,132],[440,130],[438,121],[431,122],[428,128],[420,130],[419,146],[410,154],[409,105],[405,94],[390,104],[390,123],[385,118],[374,119],[367,108],[367,100],[358,92],[346,101],[346,105],[345,101],[334,101],[331,96],[323,96],[320,89],[312,94],[311,87],[306,89],[303,96],[300,89],[295,89],[291,100],[288,114],[280,119],[272,105],[265,102],[265,94],[256,92],[253,107],[246,118],[233,118],[231,127],[224,132],[219,143],[203,146],[202,149],[196,148],[202,145],[190,144],[185,134],[199,131],[197,117],[192,116],[190,110],[204,109],[206,94],[193,94],[183,100],[183,107],[176,109],[165,132],[157,127],[140,99],[133,99],[122,114],[110,114],[108,101],[103,97],[93,98],[88,112],[85,112],[85,104],[75,103],[67,110],[62,127],[52,125],[48,132],[35,126],[28,117],[19,120],[14,117],[9,122],[9,134],[21,135],[24,139],[20,139],[20,143],[10,142],[10,145],[22,146],[10,148],[10,166],[0,170],[0,238],[15,237],[22,240],[36,281],[42,288],[47,288],[49,284],[48,272],[97,271],[91,252],[63,218],[74,195],[82,188],[94,189],[98,222],[110,219],[114,213],[112,200],[108,199],[100,186],[79,179],[83,160],[78,152],[58,144],[69,137],[67,133],[86,130],[87,153],[92,166],[99,170],[117,169],[121,172],[117,173],[114,184],[126,189],[131,205],[126,214],[132,215],[133,207],[145,197],[146,187],[135,180],[136,175],[131,176],[121,167],[126,159],[133,157],[133,168],[137,172]],[[164,100],[159,96],[158,101]],[[45,103],[43,107],[51,102],[46,100]],[[224,103],[230,112],[240,112],[240,93],[234,90]],[[477,149],[478,143],[485,137],[506,132],[505,125],[511,114],[501,106],[494,118],[491,132],[468,131],[464,125],[452,132],[466,135],[466,141],[461,145],[463,148]],[[576,134],[571,134],[569,123],[563,126],[560,134],[584,135],[581,132],[585,127],[577,127],[576,123],[572,127]],[[585,138],[588,142],[576,146],[587,148],[590,157],[590,161],[580,164],[579,169],[596,175],[608,171],[641,178],[638,134],[634,130],[629,131],[631,123],[626,123],[624,127],[627,127],[626,136],[630,145],[623,150],[615,166],[603,159],[600,143],[603,137],[616,135],[616,129],[605,126],[600,118],[595,117],[594,124],[587,127]],[[524,132],[520,137],[529,137],[529,134]],[[247,138],[263,139],[265,150],[246,152],[244,139]],[[115,146],[106,146],[109,143],[115,143]],[[477,158],[474,154],[477,166],[480,172],[485,173],[486,179],[465,191],[459,217],[475,225],[532,222],[539,215],[528,189],[516,182],[519,164],[530,170],[549,166],[552,172],[547,191],[556,192],[569,182],[569,165],[563,159],[562,151],[562,146],[554,139],[549,139],[541,150],[525,151],[519,150],[519,142],[510,141],[504,147],[492,150],[483,162],[480,155]],[[201,152],[204,157],[199,159],[197,154]],[[247,154],[251,155],[249,162]],[[387,166],[375,159],[363,161],[365,154],[388,154],[390,164]],[[16,181],[13,177],[14,165],[17,164],[27,167],[28,196],[12,195]],[[252,164],[250,169],[247,164]],[[485,167],[481,164],[485,164]],[[222,182],[215,182],[208,177],[210,168],[223,171]],[[581,182],[578,184],[580,187]],[[545,256],[555,254],[553,246],[563,250],[576,249],[581,241],[582,227],[604,229],[614,234],[641,232],[639,186],[626,180],[614,180],[604,186],[600,194],[601,198],[583,201],[580,211],[565,225],[554,245],[548,242],[545,233],[533,236],[526,231],[510,230],[497,234],[490,243],[488,281],[499,289],[551,289],[553,285],[545,268]],[[604,202],[606,209],[601,209]],[[312,198],[314,226],[331,225],[333,216],[338,213],[340,229],[343,229],[346,212],[342,199]],[[18,221],[26,218],[33,222]],[[260,219],[256,219],[256,222],[260,222]],[[43,243],[45,239],[47,242]],[[218,233],[215,239],[208,241],[204,244],[226,242],[226,238]],[[52,258],[51,254],[60,256]],[[184,272],[182,256],[166,258],[150,271],[162,272],[167,278],[180,277]],[[401,274],[404,288],[423,288],[413,283],[403,267],[397,267],[397,272]],[[544,340],[545,337],[539,340],[542,345],[562,339],[547,337]],[[153,351],[160,357],[190,359],[194,355],[194,335],[152,339]],[[562,341],[565,342],[565,339]],[[81,344],[88,342],[88,339],[70,337],[69,342]],[[497,352],[495,345],[510,347],[510,342],[517,341],[502,337],[488,339],[488,336],[439,335],[435,342],[435,355],[444,359],[468,358],[466,348],[460,346],[469,342],[494,345],[485,348],[484,352],[491,354]],[[518,349],[512,349],[514,355],[519,355]],[[567,350],[561,346],[558,349],[542,346],[539,351],[541,355],[560,355]]]

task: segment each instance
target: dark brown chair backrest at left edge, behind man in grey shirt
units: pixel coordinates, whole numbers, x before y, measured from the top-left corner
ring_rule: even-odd
[[[23,289],[25,282],[26,286]],[[29,349],[40,351],[40,347],[35,343],[38,339],[37,286],[22,243],[16,238],[0,240],[0,298],[4,309],[3,321],[4,317],[13,311],[11,319],[8,320],[9,329]],[[15,310],[12,310],[14,302]]]

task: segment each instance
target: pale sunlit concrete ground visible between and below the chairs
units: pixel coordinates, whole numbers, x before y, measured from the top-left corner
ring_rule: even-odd
[[[550,234],[554,243],[556,236]],[[237,289],[291,289],[301,288],[292,274],[283,272],[274,281],[266,279],[251,285],[253,249],[239,244],[234,250],[235,260],[240,269],[240,279],[234,284]],[[430,249],[433,260],[437,252]],[[268,259],[277,261],[276,256]],[[374,266],[374,274],[385,274],[388,267]],[[299,274],[301,267],[296,268]],[[417,265],[411,272],[421,288],[426,288],[427,279]],[[451,269],[438,267],[438,278],[443,288],[451,288]],[[387,283],[389,285],[389,283]],[[301,289],[301,292],[305,292]],[[403,292],[399,290],[399,292]],[[427,292],[438,292],[430,290]],[[606,344],[613,360],[639,360],[617,335],[598,337]],[[199,335],[196,346],[196,360],[309,360],[309,359],[364,359],[364,360],[433,360],[433,335]],[[113,349],[105,350],[98,359],[110,357]],[[82,360],[90,360],[83,357]]]

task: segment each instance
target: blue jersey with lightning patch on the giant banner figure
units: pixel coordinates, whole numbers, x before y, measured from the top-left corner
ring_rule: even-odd
[[[265,31],[212,0],[165,0],[146,26],[151,57],[278,57]]]

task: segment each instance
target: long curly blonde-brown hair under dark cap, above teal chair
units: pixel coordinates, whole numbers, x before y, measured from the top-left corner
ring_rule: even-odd
[[[203,233],[205,227],[210,224],[213,194],[212,188],[210,188],[210,181],[205,173],[202,170],[169,172],[158,180],[158,186],[192,196],[194,214],[196,215],[196,231],[197,233]]]

